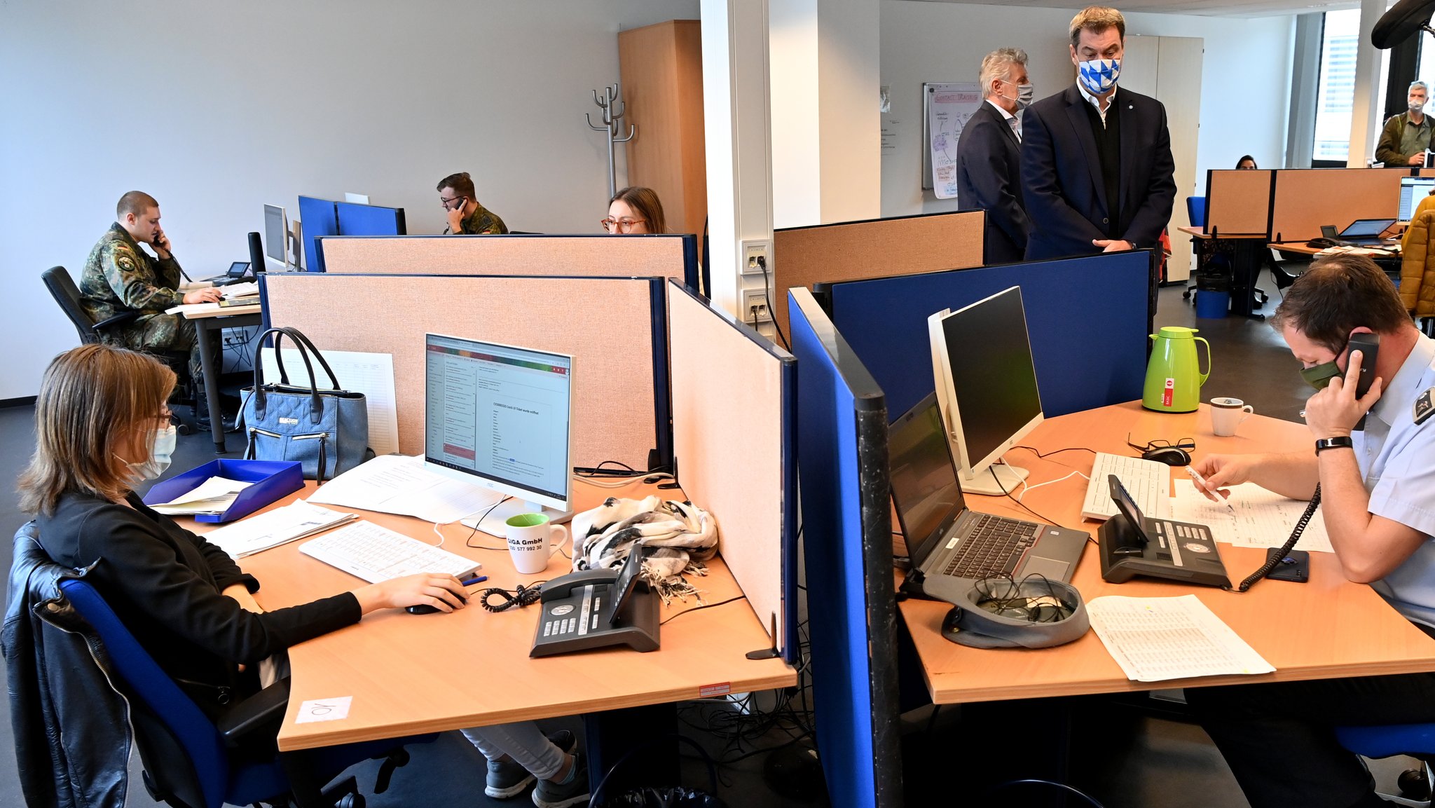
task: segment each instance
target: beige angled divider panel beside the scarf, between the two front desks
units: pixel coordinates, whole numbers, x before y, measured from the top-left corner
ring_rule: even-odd
[[[667,306],[677,479],[718,520],[723,561],[796,662],[796,359],[677,281]]]

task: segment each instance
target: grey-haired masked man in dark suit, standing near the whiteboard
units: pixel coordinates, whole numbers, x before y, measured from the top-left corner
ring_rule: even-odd
[[[1022,133],[1016,111],[1032,103],[1026,52],[1003,47],[982,60],[986,100],[957,139],[957,202],[982,208],[986,217],[983,264],[1009,264],[1026,254],[1026,211],[1022,208]]]

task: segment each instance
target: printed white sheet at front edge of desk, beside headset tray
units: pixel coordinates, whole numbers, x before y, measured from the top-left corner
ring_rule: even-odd
[[[1132,682],[1276,670],[1194,594],[1105,596],[1086,603],[1086,613]]]

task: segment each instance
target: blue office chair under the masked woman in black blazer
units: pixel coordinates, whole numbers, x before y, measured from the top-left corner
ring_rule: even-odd
[[[14,563],[34,563],[36,555],[43,558],[43,554],[34,522],[22,527],[14,537]],[[95,587],[83,580],[83,570],[65,568],[59,576],[32,576],[30,586],[36,587],[32,600],[46,601],[52,613],[73,607],[75,614],[93,630],[102,657],[108,657],[110,670],[118,673],[113,685],[129,702],[131,723],[145,766],[145,788],[161,802],[175,808],[260,802],[286,808],[363,808],[364,799],[353,776],[327,791],[320,786],[352,764],[383,758],[375,786],[375,792],[383,792],[393,769],[408,764],[402,745],[436,738],[428,735],[280,755],[274,749],[274,735],[284,720],[288,679],[225,706],[220,718],[211,719],[155,663]],[[55,591],[56,577],[59,591]],[[49,672],[40,672],[40,676],[46,675]],[[56,670],[55,675],[65,673]]]

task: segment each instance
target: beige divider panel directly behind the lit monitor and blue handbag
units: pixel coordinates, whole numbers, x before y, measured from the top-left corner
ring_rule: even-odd
[[[393,354],[405,455],[423,452],[423,334],[435,333],[571,354],[573,465],[646,469],[654,448],[659,465],[670,462],[667,343],[654,329],[666,321],[662,278],[260,277],[270,323],[320,350]]]

